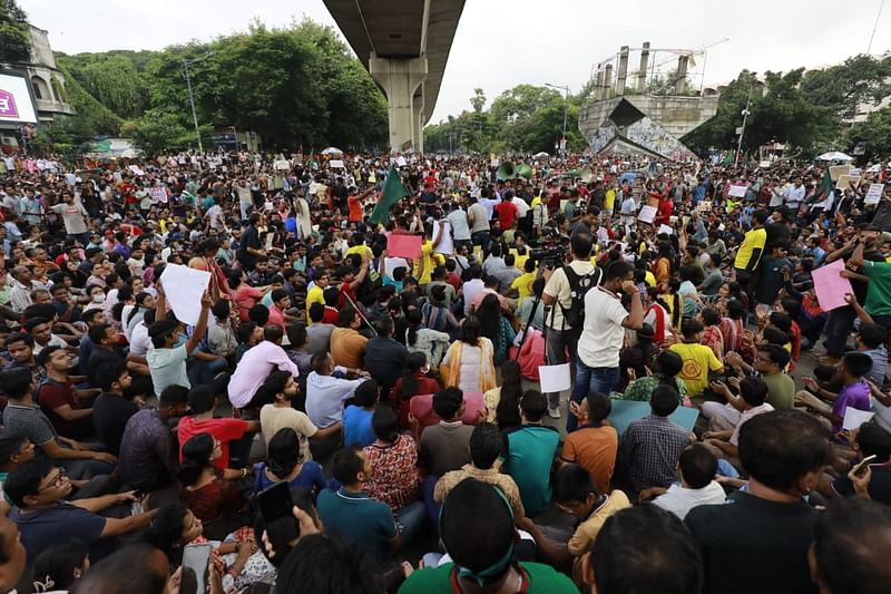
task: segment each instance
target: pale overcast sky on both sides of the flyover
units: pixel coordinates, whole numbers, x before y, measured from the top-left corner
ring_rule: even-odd
[[[396,1],[396,0],[393,0]],[[437,1],[437,0],[432,0]],[[489,100],[519,85],[569,85],[577,91],[593,65],[619,47],[698,49],[696,85],[718,85],[748,68],[790,70],[838,64],[865,52],[881,0],[467,0],[431,123],[470,109],[473,89]],[[19,0],[30,21],[68,53],[161,49],[242,31],[257,18],[270,27],[303,16],[334,20],[322,0]],[[891,2],[872,53],[891,50]],[[638,64],[631,58],[631,68]],[[673,60],[668,53],[658,61]],[[665,66],[664,68],[668,68]]]

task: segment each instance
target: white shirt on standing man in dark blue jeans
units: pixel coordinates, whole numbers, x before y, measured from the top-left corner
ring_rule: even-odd
[[[578,341],[578,357],[590,368],[619,367],[619,351],[625,341],[621,322],[628,312],[621,299],[603,286],[585,293],[585,325]]]

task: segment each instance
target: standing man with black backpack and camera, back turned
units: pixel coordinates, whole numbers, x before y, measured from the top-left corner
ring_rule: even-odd
[[[572,367],[575,377],[575,366],[578,360],[577,344],[581,335],[581,320],[578,318],[578,302],[581,303],[581,314],[584,315],[584,294],[587,289],[596,286],[600,272],[590,262],[591,259],[591,236],[588,233],[579,232],[572,235],[569,242],[569,254],[572,257],[569,264],[557,269],[541,266],[542,276],[547,284],[541,295],[545,305],[550,306],[550,312],[545,317],[545,338],[547,341],[548,364],[560,364],[566,362],[566,351],[569,350],[569,362]],[[574,301],[576,308],[574,308]],[[567,320],[567,314],[575,321]],[[584,318],[582,318],[584,319]],[[550,392],[548,397],[548,415],[552,419],[560,418],[560,393]],[[568,416],[567,428],[576,428],[576,418]]]

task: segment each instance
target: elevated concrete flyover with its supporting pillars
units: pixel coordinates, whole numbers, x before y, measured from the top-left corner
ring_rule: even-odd
[[[423,152],[464,0],[324,0],[389,104],[390,147]]]

